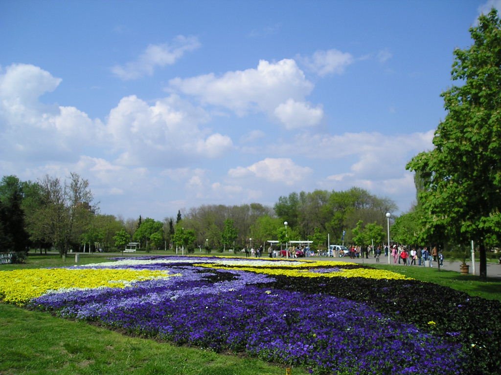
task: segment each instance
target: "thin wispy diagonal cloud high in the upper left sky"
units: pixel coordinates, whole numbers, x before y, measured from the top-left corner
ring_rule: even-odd
[[[155,67],[174,64],[185,52],[200,47],[194,36],[176,36],[170,43],[150,44],[136,61],[111,68],[113,74],[124,80],[137,79],[145,75],[153,75]]]

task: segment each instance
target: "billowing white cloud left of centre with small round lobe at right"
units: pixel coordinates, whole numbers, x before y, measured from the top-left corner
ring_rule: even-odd
[[[153,105],[131,95],[110,111],[107,131],[115,149],[122,150],[121,163],[171,165],[194,156],[217,157],[232,148],[228,136],[200,130],[207,119],[202,109],[176,95]]]

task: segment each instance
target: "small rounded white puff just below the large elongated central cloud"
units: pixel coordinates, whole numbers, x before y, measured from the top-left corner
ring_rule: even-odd
[[[289,130],[317,125],[324,116],[321,105],[312,108],[309,103],[288,99],[274,111],[275,115]]]

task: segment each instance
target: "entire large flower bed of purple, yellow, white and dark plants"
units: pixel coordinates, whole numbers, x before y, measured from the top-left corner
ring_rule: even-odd
[[[52,282],[70,276],[79,282]],[[18,295],[11,286],[37,277],[36,292],[24,287]],[[499,368],[491,355],[501,342],[499,302],[353,263],[117,258],[0,271],[0,298],[319,374],[487,374]]]

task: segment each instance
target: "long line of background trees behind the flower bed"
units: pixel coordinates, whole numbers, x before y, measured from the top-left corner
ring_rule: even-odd
[[[183,247],[241,249],[267,240],[314,240],[314,248],[355,238],[382,238],[385,212],[395,203],[367,190],[315,190],[281,196],[273,206],[260,203],[202,205],[178,210],[177,216],[158,221],[150,217],[124,220],[101,214],[88,180],[71,173],[63,180],[49,175],[21,181],[14,175],[0,182],[0,246],[2,251],[112,251],[136,241],[142,249]],[[287,225],[284,222],[287,221]],[[367,226],[367,229],[365,229]],[[374,233],[379,230],[376,236]],[[345,233],[343,235],[343,233]],[[368,242],[370,243],[370,242]]]

